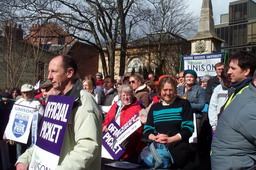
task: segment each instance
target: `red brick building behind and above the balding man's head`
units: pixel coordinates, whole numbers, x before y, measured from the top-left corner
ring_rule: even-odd
[[[56,23],[33,24],[25,40],[56,55],[72,56],[78,63],[81,78],[86,74],[95,75],[98,71],[98,50],[89,44],[76,41]]]

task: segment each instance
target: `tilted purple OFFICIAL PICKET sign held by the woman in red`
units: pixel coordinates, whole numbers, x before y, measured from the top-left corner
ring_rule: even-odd
[[[124,126],[120,127],[114,120],[110,121],[108,131],[102,134],[102,154],[107,159],[118,160],[125,152],[122,142],[141,126],[138,115],[134,115]]]

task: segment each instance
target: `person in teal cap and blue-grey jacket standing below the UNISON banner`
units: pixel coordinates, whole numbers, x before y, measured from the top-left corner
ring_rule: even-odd
[[[181,98],[187,99],[190,102],[192,111],[196,114],[196,126],[199,134],[201,127],[201,119],[203,117],[201,111],[205,105],[205,90],[196,83],[196,79],[197,73],[194,70],[185,70],[185,85],[179,86],[177,88],[177,94]]]

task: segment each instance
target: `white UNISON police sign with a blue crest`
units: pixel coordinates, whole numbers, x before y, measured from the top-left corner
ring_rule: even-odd
[[[26,144],[35,112],[35,108],[14,104],[5,129],[6,138]]]

